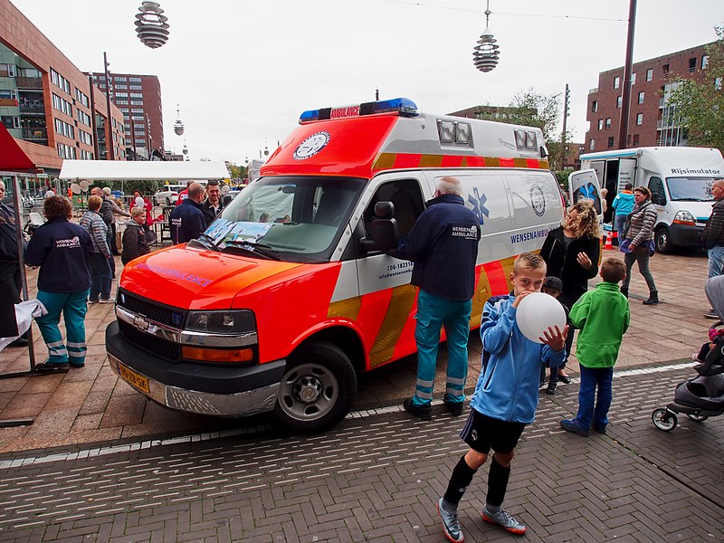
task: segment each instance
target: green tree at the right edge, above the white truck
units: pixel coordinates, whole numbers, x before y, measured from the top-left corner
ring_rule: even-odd
[[[689,131],[689,144],[724,152],[724,26],[715,28],[719,40],[707,46],[709,66],[701,81],[679,80],[669,105]]]

